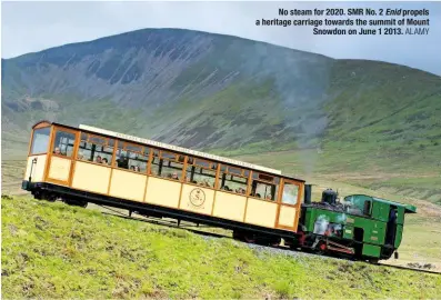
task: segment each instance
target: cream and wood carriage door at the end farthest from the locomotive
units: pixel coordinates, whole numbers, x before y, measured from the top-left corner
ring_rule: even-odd
[[[69,186],[73,168],[73,149],[77,132],[66,128],[54,128],[51,143],[47,181]]]

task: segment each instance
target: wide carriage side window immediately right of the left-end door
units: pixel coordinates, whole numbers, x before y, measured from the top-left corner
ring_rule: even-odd
[[[113,156],[112,144],[112,139],[81,133],[77,159],[110,166]]]

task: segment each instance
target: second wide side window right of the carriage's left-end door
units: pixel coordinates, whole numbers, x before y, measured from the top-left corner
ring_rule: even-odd
[[[139,144],[118,142],[116,164],[121,169],[147,172],[149,148]]]

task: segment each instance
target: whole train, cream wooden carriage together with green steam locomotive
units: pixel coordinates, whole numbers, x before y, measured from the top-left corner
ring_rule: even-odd
[[[311,186],[279,170],[49,121],[32,127],[22,189],[36,199],[107,204],[231,229],[247,242],[283,239],[292,248],[362,259],[389,258],[400,244],[404,212],[415,211],[368,196],[342,204],[331,190],[311,202]]]

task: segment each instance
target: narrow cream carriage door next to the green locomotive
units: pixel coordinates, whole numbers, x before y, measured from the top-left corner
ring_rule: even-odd
[[[283,179],[279,196],[277,228],[297,231],[300,216],[301,183]]]

